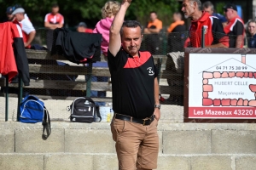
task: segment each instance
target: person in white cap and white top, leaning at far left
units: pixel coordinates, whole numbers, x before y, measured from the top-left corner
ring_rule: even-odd
[[[15,20],[21,23],[21,30],[23,34],[25,48],[31,48],[31,42],[33,41],[36,35],[36,30],[33,27],[32,22],[25,14],[25,9],[15,8],[12,14],[15,16]]]

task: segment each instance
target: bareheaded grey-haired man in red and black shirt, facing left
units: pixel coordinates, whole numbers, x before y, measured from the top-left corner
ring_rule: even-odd
[[[229,37],[224,35],[224,28],[217,17],[201,11],[200,0],[183,0],[183,14],[185,18],[191,18],[189,27],[190,45],[201,48],[201,31],[205,27],[206,48],[228,48]]]

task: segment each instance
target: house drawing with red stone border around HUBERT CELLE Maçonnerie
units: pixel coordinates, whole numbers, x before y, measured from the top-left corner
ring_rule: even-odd
[[[202,71],[202,106],[256,106],[256,69],[230,58]]]

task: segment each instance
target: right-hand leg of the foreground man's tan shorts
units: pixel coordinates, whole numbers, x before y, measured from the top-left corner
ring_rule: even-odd
[[[147,127],[147,133],[139,147],[137,155],[137,169],[156,169],[159,151],[159,137],[157,133],[157,120],[154,119]]]

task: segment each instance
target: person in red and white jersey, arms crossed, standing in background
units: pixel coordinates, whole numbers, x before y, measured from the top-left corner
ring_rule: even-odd
[[[54,3],[51,6],[51,13],[46,14],[44,18],[44,27],[49,29],[47,31],[47,48],[51,50],[53,40],[53,30],[61,28],[64,25],[64,17],[59,13],[59,5]]]

